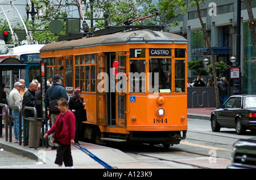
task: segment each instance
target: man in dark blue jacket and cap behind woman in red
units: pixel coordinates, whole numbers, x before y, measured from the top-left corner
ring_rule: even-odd
[[[65,98],[68,101],[68,94],[66,89],[61,85],[63,78],[59,74],[56,74],[53,76],[53,84],[52,87],[47,89],[46,96],[44,97],[44,104],[46,104],[47,107],[49,107],[49,100],[58,100],[60,97]],[[59,114],[51,114],[51,121],[52,126],[56,121],[56,118]],[[56,149],[58,144],[53,143],[53,138],[50,139],[50,145],[52,146],[52,149]]]

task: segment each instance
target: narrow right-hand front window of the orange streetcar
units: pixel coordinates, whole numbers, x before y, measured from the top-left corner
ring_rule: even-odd
[[[175,60],[175,92],[185,92],[185,60]]]

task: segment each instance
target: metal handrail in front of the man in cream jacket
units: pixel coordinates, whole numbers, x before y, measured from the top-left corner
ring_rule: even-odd
[[[9,115],[9,142],[12,142],[12,132],[11,132],[11,118],[19,118],[19,145],[22,145],[22,119],[21,119],[21,107],[10,105],[10,115]],[[12,109],[18,110],[19,116],[16,117],[12,114]]]

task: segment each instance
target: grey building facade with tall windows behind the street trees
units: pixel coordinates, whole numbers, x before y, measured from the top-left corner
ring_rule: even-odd
[[[251,7],[256,17],[256,1],[251,1]],[[205,1],[204,5],[200,5],[200,11],[216,61],[236,66],[236,63],[230,62],[230,58],[240,58],[242,93],[256,93],[256,54],[251,41],[245,1],[241,2],[241,19],[237,19],[237,0]],[[208,65],[210,65],[212,57],[203,37],[196,7],[191,7],[185,15],[179,15],[175,20],[180,24],[177,27],[167,27],[166,31],[177,33],[188,39],[188,61],[208,58],[210,60]],[[237,57],[237,20],[241,21],[241,57]],[[229,75],[227,71],[228,79]],[[188,77],[190,80],[194,78],[191,71],[188,71]],[[233,82],[232,79],[229,80]]]

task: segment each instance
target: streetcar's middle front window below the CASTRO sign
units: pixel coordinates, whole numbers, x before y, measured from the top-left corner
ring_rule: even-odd
[[[152,85],[154,74],[158,73],[159,91],[171,92],[171,58],[150,58],[149,72],[152,72]]]

